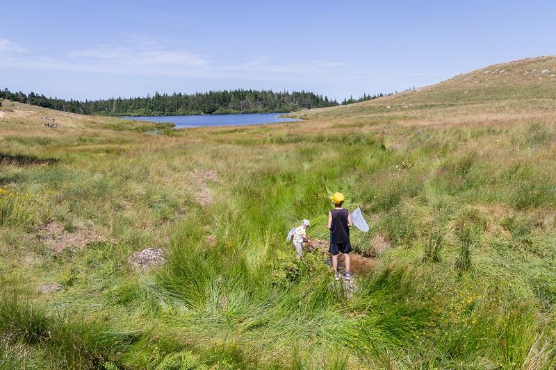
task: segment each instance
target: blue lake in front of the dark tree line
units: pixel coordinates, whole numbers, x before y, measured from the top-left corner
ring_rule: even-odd
[[[244,115],[197,115],[197,116],[142,116],[122,117],[136,121],[172,122],[176,128],[211,127],[211,126],[238,126],[256,124],[277,124],[280,122],[301,121],[297,118],[278,117],[286,113],[246,113]]]

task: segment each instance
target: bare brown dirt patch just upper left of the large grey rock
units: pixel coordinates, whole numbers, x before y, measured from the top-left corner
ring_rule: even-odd
[[[95,228],[81,227],[70,233],[57,221],[50,221],[39,228],[38,233],[44,244],[54,253],[62,253],[65,249],[81,249],[90,242],[97,242],[101,235]]]

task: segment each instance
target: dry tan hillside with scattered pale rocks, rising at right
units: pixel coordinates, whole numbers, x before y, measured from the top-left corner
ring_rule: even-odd
[[[372,101],[293,115],[305,119],[345,117],[353,120],[373,114],[401,114],[405,119],[442,121],[448,118],[445,117],[447,112],[454,112],[455,119],[472,115],[471,119],[475,120],[477,113],[496,117],[499,113],[505,115],[508,110],[519,115],[525,112],[531,115],[551,114],[555,99],[556,56],[546,56],[491,65],[436,85]]]

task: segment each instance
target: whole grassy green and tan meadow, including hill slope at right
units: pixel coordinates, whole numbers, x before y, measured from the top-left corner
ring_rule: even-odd
[[[181,131],[4,101],[0,368],[553,369],[552,71]],[[284,242],[334,191],[370,221],[353,291]]]

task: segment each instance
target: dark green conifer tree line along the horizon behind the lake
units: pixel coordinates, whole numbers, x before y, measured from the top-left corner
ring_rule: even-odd
[[[363,94],[359,99],[344,99],[343,105],[376,99],[384,96]],[[163,116],[163,115],[212,115],[227,113],[293,112],[300,109],[338,106],[336,99],[329,99],[313,92],[273,92],[272,90],[222,90],[195,94],[159,94],[133,98],[99,100],[65,100],[30,92],[0,90],[0,98],[31,104],[43,108],[79,113],[81,115],[111,116]]]

